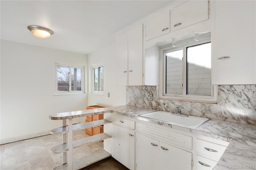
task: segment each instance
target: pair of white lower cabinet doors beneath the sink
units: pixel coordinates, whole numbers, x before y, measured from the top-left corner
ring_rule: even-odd
[[[137,170],[191,170],[192,153],[137,133]]]

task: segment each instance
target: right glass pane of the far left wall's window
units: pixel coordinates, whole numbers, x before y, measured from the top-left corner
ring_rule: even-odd
[[[71,90],[81,91],[81,69],[71,68]]]

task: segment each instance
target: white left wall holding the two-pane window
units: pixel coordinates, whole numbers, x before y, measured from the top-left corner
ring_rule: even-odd
[[[87,71],[87,55],[1,40],[1,143],[49,133],[62,125],[49,115],[86,109],[86,94],[54,96],[55,62]]]

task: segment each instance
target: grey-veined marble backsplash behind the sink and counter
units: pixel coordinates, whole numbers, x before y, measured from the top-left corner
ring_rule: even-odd
[[[149,100],[149,95],[153,100]],[[157,86],[127,86],[126,105],[256,125],[256,85],[219,85],[218,103],[157,99]]]

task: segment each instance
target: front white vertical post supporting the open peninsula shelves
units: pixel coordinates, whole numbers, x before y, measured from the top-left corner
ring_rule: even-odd
[[[68,119],[68,170],[73,169],[73,129],[72,119]]]

